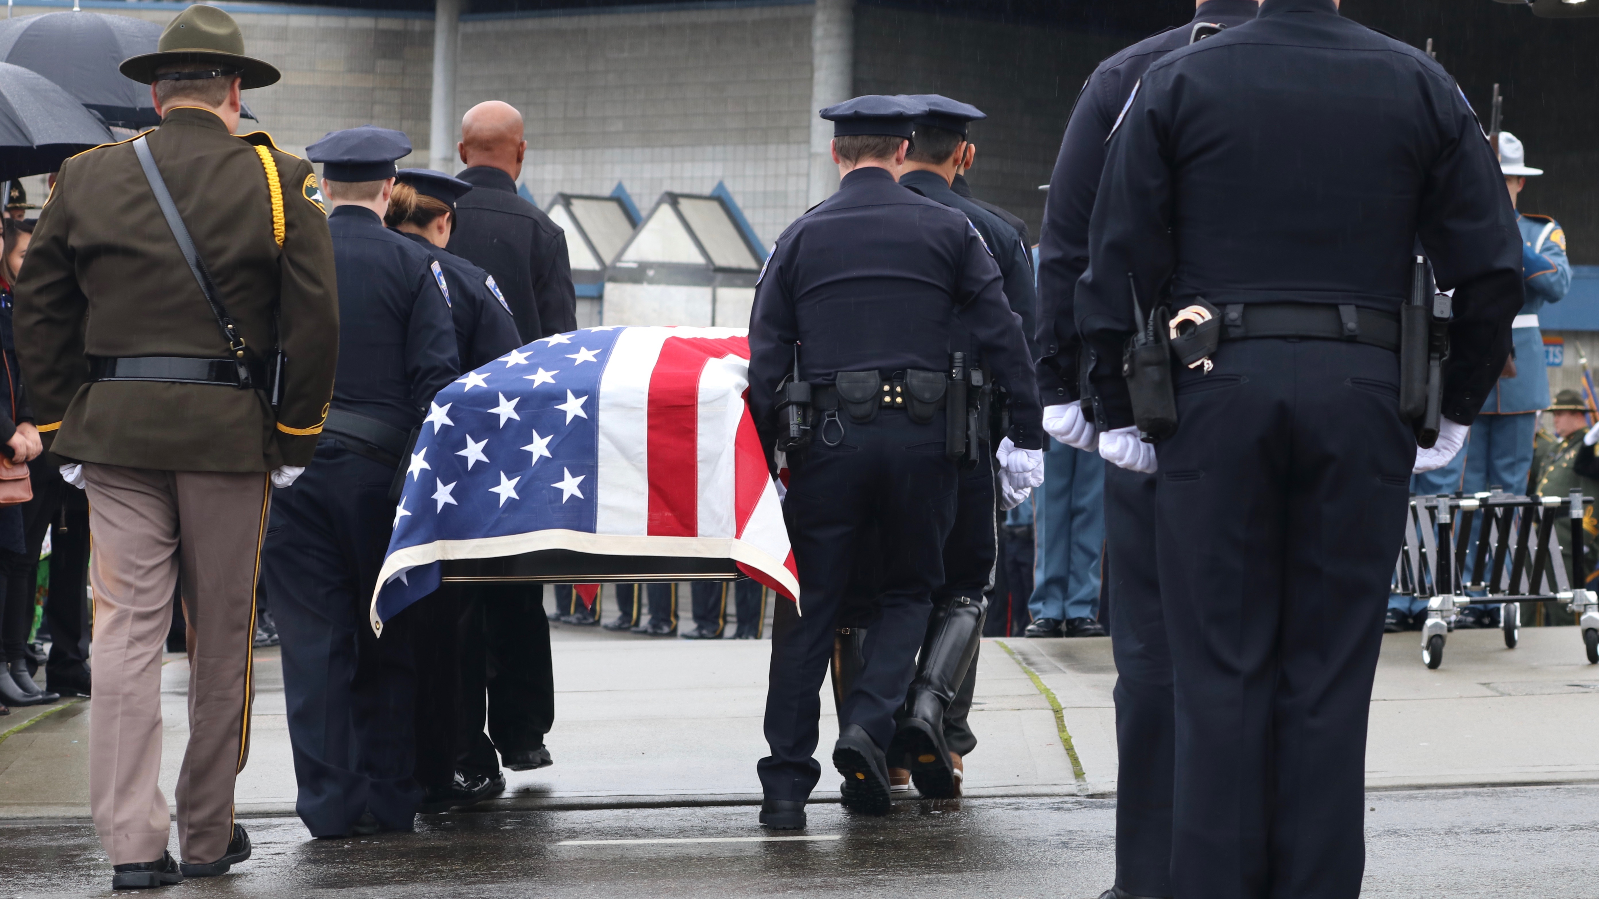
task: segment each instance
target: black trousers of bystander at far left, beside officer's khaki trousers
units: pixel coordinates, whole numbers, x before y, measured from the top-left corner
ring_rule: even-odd
[[[27,463],[34,498],[22,506],[22,533],[27,540],[27,584],[38,583],[38,554],[45,533],[50,538],[50,596],[45,621],[50,623],[50,661],[45,674],[56,683],[90,685],[90,505],[83,490],[61,479],[61,471],[40,457]]]

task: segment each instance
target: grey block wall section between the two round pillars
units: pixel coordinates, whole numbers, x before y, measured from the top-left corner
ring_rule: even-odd
[[[456,118],[500,99],[528,121],[523,180],[609,193],[728,184],[763,241],[806,209],[812,6],[464,18]]]

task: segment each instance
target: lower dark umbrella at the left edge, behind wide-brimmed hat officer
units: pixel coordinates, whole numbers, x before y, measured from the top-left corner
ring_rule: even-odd
[[[67,156],[110,139],[101,120],[54,81],[0,62],[0,179],[53,172]]]

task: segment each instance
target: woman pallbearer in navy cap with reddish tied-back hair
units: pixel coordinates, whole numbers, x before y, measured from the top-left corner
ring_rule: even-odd
[[[462,370],[484,366],[521,347],[516,321],[494,276],[443,249],[456,230],[456,200],[469,190],[470,184],[445,172],[400,169],[389,196],[389,212],[384,214],[384,224],[433,257],[429,268],[449,302]],[[424,792],[424,813],[473,803],[496,787],[492,778],[480,776],[470,782],[456,770],[461,693],[456,628],[462,594],[461,586],[443,584],[409,612],[417,671],[416,779]],[[497,786],[504,787],[504,781]]]

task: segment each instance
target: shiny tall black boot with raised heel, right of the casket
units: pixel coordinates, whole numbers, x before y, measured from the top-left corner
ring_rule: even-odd
[[[988,600],[982,594],[934,600],[916,680],[905,696],[903,717],[891,749],[903,754],[911,781],[926,798],[958,795],[955,762],[943,743],[943,711],[950,707],[972,666],[987,610]]]

